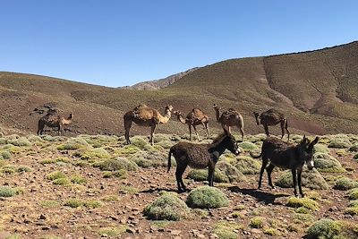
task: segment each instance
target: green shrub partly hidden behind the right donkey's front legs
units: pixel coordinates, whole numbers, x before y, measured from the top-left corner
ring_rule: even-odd
[[[292,179],[291,171],[285,171],[282,175],[280,175],[275,185],[282,188],[293,187],[294,181]],[[324,180],[323,176],[320,175],[319,171],[315,168],[308,170],[306,166],[303,167],[302,185],[310,189],[328,189],[328,184]]]

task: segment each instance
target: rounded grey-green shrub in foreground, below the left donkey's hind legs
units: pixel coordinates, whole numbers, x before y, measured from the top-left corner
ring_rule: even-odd
[[[170,193],[165,193],[150,203],[143,211],[144,216],[155,220],[177,221],[189,215],[185,202]]]

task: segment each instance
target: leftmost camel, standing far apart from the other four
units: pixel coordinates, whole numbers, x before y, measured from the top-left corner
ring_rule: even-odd
[[[56,113],[57,110],[50,108],[47,111],[47,115],[42,116],[38,120],[38,134],[42,134],[45,125],[47,125],[50,128],[57,128],[58,135],[61,135],[61,130],[63,129],[64,125],[72,123],[72,113],[66,118],[62,115],[57,115]]]

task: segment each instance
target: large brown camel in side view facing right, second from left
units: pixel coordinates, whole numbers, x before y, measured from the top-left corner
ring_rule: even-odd
[[[139,126],[150,127],[150,144],[153,145],[153,135],[158,124],[166,124],[172,116],[172,106],[166,106],[165,115],[160,115],[157,109],[147,107],[144,104],[135,107],[133,110],[124,114],[124,129],[125,140],[128,144],[131,143],[129,139],[129,131],[132,127],[132,122]]]

